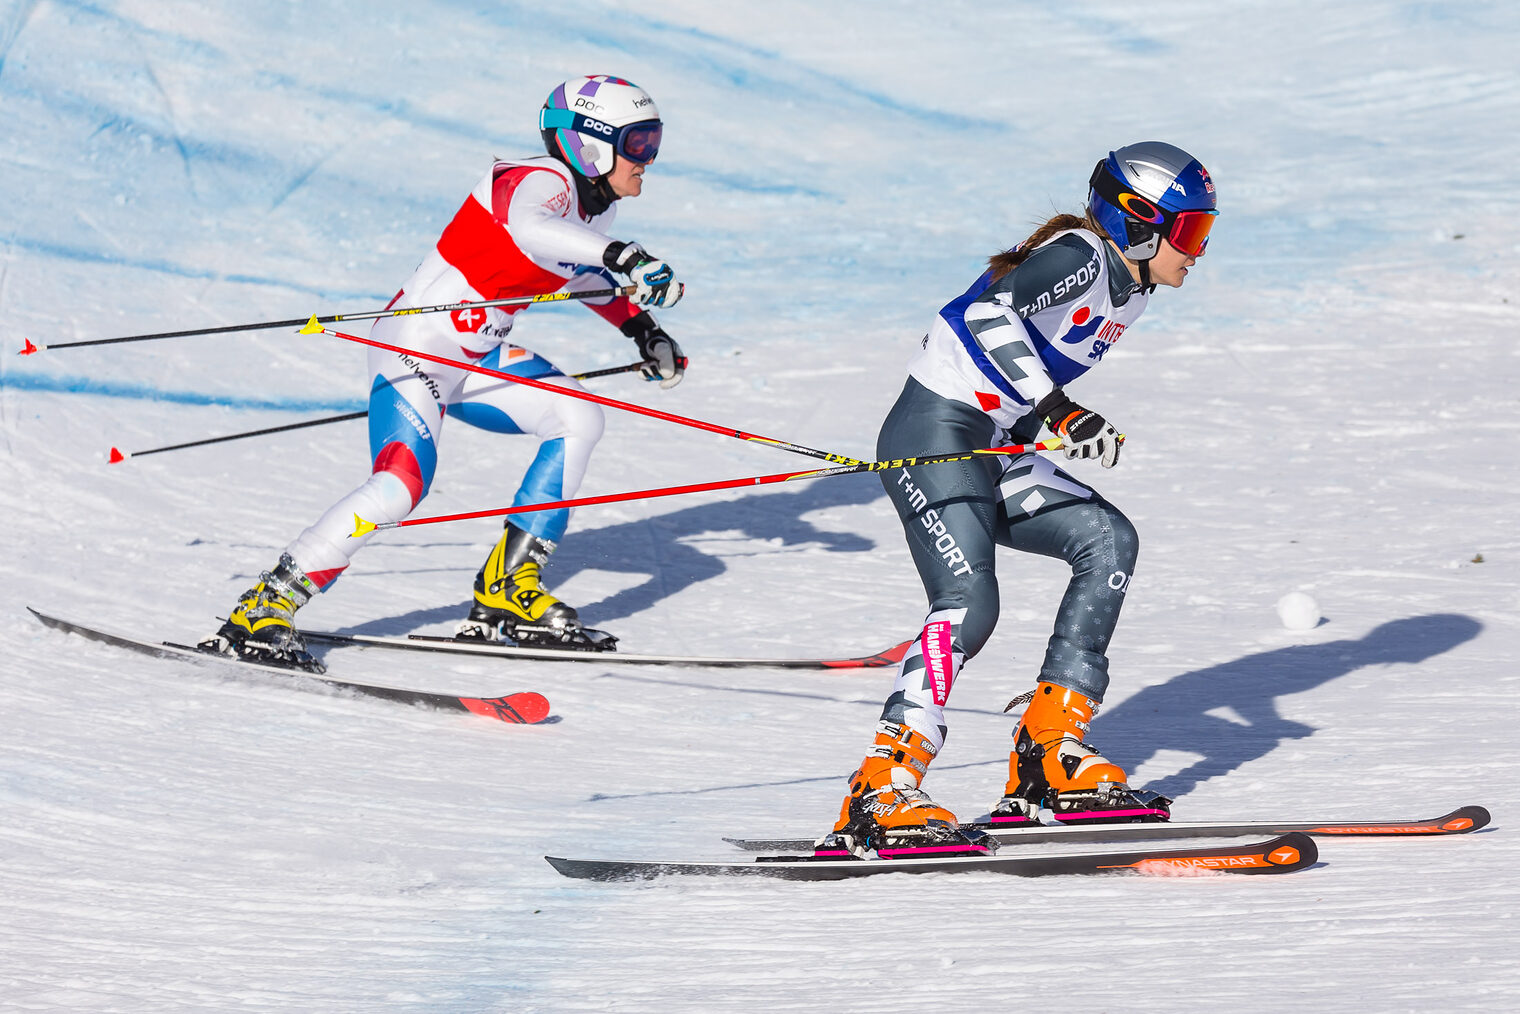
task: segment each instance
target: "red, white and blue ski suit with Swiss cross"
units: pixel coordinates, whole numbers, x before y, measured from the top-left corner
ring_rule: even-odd
[[[608,289],[602,266],[617,213],[582,213],[570,170],[543,155],[499,160],[476,184],[438,243],[392,299],[397,309],[499,299],[544,292]],[[638,309],[626,298],[587,301],[613,325]],[[480,363],[502,372],[579,385],[535,353],[509,344],[524,307],[483,307],[451,313],[380,318],[369,334],[398,348]],[[369,351],[369,459],[372,474],[334,503],[286,552],[319,587],[348,567],[368,537],[353,538],[354,515],[400,521],[427,496],[438,468],[444,415],[500,433],[532,433],[538,456],[518,486],[515,505],[575,496],[591,448],[602,436],[602,409],[456,366],[400,353]],[[520,514],[514,523],[553,543],[568,511]]]

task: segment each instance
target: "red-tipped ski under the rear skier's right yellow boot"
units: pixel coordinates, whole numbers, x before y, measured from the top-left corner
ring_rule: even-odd
[[[534,661],[591,661],[599,666],[701,666],[704,669],[882,669],[895,666],[912,642],[894,645],[876,655],[845,658],[742,658],[696,655],[638,655],[623,651],[597,651],[591,646],[538,648],[526,645],[496,645],[491,642],[454,640],[433,634],[385,637],[378,634],[337,634],[333,631],[301,631],[319,645],[350,645],[356,648],[400,648],[404,651],[436,651],[453,655],[494,655],[499,658],[530,658]]]

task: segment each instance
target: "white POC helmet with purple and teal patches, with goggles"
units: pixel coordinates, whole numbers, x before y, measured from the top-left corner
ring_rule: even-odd
[[[572,78],[549,93],[538,112],[544,147],[588,179],[613,172],[614,155],[652,163],[661,126],[649,93],[610,74]]]

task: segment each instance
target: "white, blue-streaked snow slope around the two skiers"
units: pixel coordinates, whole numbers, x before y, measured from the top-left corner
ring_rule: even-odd
[[[1145,11],[1143,15],[1137,14]],[[0,5],[0,1008],[20,1011],[1517,1009],[1520,8],[1231,0]],[[575,73],[669,123],[617,234],[669,258],[679,388],[611,397],[868,455],[930,315],[1146,137],[1224,214],[1075,389],[1142,570],[1096,740],[1180,818],[1430,816],[1290,877],[596,885],[541,856],[722,859],[831,821],[876,673],[328,655],[546,692],[532,728],[302,692],[44,629],[193,639],[365,474],[362,351],[251,333],[383,304]],[[629,347],[576,307],[521,341]],[[451,426],[420,514],[505,503],[530,441]],[[585,491],[806,467],[619,415]],[[1084,473],[1087,474],[1087,473]],[[445,631],[492,521],[377,540],[312,626]],[[974,815],[1064,582],[1002,625],[927,787]],[[868,652],[923,597],[871,477],[582,509],[550,579],[629,651]],[[1325,620],[1283,629],[1301,590]]]

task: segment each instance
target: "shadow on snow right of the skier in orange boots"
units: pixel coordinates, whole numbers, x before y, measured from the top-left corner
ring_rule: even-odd
[[[1129,771],[1163,749],[1202,754],[1183,771],[1145,786],[1180,798],[1208,778],[1265,757],[1286,740],[1316,731],[1313,725],[1283,718],[1277,698],[1312,690],[1365,666],[1426,661],[1482,629],[1470,616],[1412,616],[1383,623],[1357,640],[1294,645],[1195,669],[1105,710],[1093,722],[1093,737]],[[1230,708],[1231,718],[1246,724],[1210,715],[1219,708]]]

